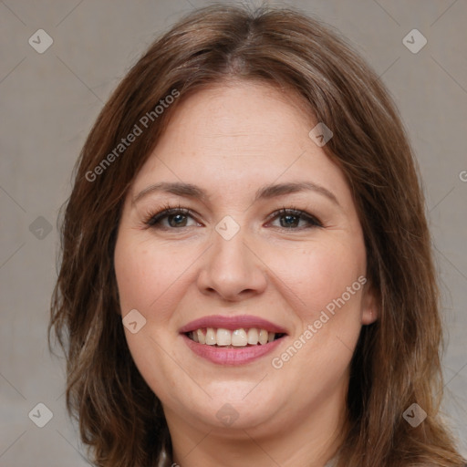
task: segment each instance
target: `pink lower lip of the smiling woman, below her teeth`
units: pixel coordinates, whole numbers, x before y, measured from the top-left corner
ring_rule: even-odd
[[[182,334],[183,340],[192,351],[206,360],[218,365],[244,365],[250,363],[257,358],[265,357],[271,353],[285,337],[278,338],[267,344],[258,344],[256,346],[241,347],[241,348],[222,348],[208,346],[207,344],[199,344],[194,342],[190,337]]]

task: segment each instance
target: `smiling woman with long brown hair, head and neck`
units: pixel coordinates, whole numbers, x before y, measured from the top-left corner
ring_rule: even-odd
[[[62,227],[50,327],[96,465],[464,465],[407,136],[317,20],[173,26],[101,111]]]

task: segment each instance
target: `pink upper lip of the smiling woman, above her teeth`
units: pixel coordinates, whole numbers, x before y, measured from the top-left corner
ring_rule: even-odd
[[[223,315],[214,315],[212,317],[200,317],[194,319],[190,323],[180,328],[180,333],[187,333],[201,329],[202,327],[222,327],[223,329],[240,329],[241,327],[255,327],[257,329],[265,329],[268,332],[287,334],[284,327],[275,325],[262,317],[254,317],[251,315],[241,315],[238,317],[225,317]]]

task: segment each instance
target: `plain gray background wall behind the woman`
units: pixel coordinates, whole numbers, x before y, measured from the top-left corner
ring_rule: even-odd
[[[202,5],[206,2],[0,1],[0,466],[87,465],[77,429],[67,420],[63,361],[47,350],[57,211],[109,93],[155,36]],[[389,87],[409,130],[441,279],[444,410],[467,455],[467,2],[289,5],[336,26],[355,44]],[[54,41],[43,54],[28,43],[40,28]],[[428,40],[416,54],[402,43],[413,28]],[[36,220],[39,216],[44,219]],[[28,418],[38,402],[53,412],[44,428]]]

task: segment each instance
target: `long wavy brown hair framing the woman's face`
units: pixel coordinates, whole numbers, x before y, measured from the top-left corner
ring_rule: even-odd
[[[49,337],[54,329],[65,350],[67,409],[93,462],[148,467],[162,451],[171,454],[161,403],[127,347],[114,246],[122,202],[173,110],[189,93],[228,78],[295,89],[334,132],[323,149],[344,171],[358,207],[379,319],[362,327],[351,362],[338,466],[461,466],[439,419],[441,320],[424,199],[389,93],[316,19],[290,8],[233,5],[198,9],[154,42],[100,112],[78,160],[60,221]],[[156,116],[169,95],[179,97]],[[148,129],[116,152],[145,115]],[[402,417],[414,402],[428,414],[417,428]]]

